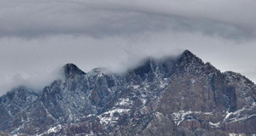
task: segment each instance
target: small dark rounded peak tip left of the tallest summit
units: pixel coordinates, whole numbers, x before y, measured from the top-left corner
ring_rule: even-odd
[[[84,75],[84,71],[81,71],[77,65],[69,63],[63,66],[65,77],[72,77],[73,75]]]

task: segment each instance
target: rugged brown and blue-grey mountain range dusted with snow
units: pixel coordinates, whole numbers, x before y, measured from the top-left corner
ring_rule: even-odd
[[[229,135],[256,133],[256,86],[186,50],[146,59],[124,75],[63,67],[41,93],[0,97],[0,132],[28,135]]]

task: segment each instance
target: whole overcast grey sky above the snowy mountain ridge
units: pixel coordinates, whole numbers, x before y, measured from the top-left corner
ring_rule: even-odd
[[[255,0],[1,0],[0,95],[42,89],[61,66],[125,71],[189,49],[256,82]]]

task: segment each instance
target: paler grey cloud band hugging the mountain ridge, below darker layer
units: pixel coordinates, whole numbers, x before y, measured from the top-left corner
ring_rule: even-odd
[[[55,79],[57,71],[67,63],[78,65],[88,72],[96,67],[107,67],[113,72],[124,72],[142,59],[153,56],[177,55],[189,49],[205,62],[221,71],[238,71],[253,80],[247,65],[254,65],[255,42],[232,42],[201,33],[173,31],[151,33],[134,38],[58,36],[24,40],[2,38],[0,50],[0,94],[11,88],[26,85],[42,90]],[[247,48],[244,48],[247,47]],[[240,66],[237,66],[240,65]]]

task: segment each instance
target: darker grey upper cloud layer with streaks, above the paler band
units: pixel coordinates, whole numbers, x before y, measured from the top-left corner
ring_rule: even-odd
[[[3,19],[0,37],[136,37],[158,31],[201,32],[233,40],[256,36],[253,1],[4,0],[0,3]]]

